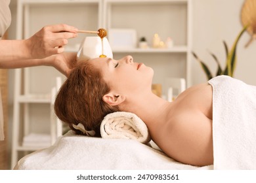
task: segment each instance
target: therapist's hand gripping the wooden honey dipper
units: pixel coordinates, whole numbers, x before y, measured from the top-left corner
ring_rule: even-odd
[[[77,29],[66,24],[48,25],[26,40],[32,58],[46,58],[64,52],[68,39],[77,37]]]

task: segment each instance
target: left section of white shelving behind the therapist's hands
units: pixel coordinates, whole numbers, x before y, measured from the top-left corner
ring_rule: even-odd
[[[80,29],[98,29],[102,27],[101,9],[100,0],[18,0],[16,39],[27,39],[41,27],[51,24],[64,23]],[[77,39],[69,41],[67,47],[72,48],[70,51],[77,51],[75,48],[83,37],[85,35],[79,35]],[[11,167],[14,167],[20,156],[24,156],[20,155],[21,152],[45,148],[49,146],[47,144],[53,144],[60,133],[51,124],[54,118],[52,89],[56,87],[56,78],[64,80],[64,76],[51,67],[16,69],[14,77]],[[55,129],[51,129],[53,127]],[[37,145],[24,145],[23,139],[35,139],[37,135],[44,140],[42,145],[40,139]]]

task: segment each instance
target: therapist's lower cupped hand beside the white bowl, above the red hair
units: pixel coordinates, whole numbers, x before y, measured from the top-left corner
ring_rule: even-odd
[[[49,65],[60,71],[63,75],[70,75],[70,71],[74,69],[76,61],[76,52],[64,52],[62,54],[52,56]]]

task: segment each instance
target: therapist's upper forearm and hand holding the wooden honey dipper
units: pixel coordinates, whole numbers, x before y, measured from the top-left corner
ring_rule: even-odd
[[[35,66],[40,63],[37,59],[64,52],[68,39],[76,36],[75,27],[58,24],[45,26],[26,40],[1,40],[0,68]],[[32,63],[32,60],[26,61],[27,59],[35,59],[35,63]],[[20,60],[25,62],[20,63]]]

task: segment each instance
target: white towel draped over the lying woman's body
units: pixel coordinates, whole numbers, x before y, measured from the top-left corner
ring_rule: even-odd
[[[213,86],[214,169],[256,169],[256,86],[229,76]]]

